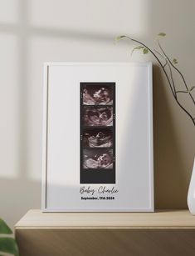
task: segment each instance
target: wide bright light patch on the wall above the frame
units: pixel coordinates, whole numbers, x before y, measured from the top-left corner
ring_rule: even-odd
[[[143,36],[149,30],[146,0],[32,0],[29,20],[33,27],[59,29],[67,33]],[[87,37],[86,37],[87,38]]]

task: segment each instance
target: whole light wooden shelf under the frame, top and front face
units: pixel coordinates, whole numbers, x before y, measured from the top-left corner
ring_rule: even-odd
[[[156,213],[41,213],[16,224],[20,256],[194,256],[195,216]]]

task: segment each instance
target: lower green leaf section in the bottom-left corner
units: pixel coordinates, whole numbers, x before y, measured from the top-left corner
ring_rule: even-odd
[[[17,242],[13,238],[0,238],[0,252],[18,256]]]

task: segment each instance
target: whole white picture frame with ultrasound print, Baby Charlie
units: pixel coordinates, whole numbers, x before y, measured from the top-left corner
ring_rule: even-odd
[[[154,211],[152,63],[44,63],[42,131],[42,212]]]

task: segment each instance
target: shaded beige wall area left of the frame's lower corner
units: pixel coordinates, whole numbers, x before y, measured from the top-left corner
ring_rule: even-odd
[[[13,228],[28,209],[41,207],[41,183],[22,176],[0,178],[0,218]]]

